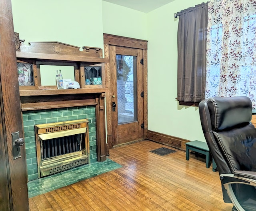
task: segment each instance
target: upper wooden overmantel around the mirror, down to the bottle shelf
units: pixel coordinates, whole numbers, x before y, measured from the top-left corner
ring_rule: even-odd
[[[40,96],[52,94],[87,94],[108,92],[104,64],[108,59],[102,58],[102,49],[94,47],[71,46],[61,42],[30,42],[29,46],[20,45],[16,51],[17,62],[33,65],[34,85],[20,86],[20,96]],[[75,81],[80,84],[77,90],[58,90],[57,86],[42,86],[40,65],[73,66]],[[86,85],[84,68],[86,66],[101,66],[102,84]],[[55,72],[52,73],[55,77]],[[32,91],[33,90],[33,91]]]

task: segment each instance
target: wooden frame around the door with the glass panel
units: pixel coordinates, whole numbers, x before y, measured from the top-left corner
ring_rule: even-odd
[[[111,34],[103,34],[104,37],[104,56],[105,58],[110,58],[110,46],[120,46],[120,47],[128,47],[128,48],[138,48],[143,50],[143,80],[144,80],[144,135],[143,139],[147,138],[147,131],[148,131],[148,66],[147,66],[147,49],[148,49],[148,41],[146,40],[139,40],[134,38],[127,38],[122,36],[116,36]],[[114,140],[114,133],[113,133],[113,125],[112,125],[112,90],[110,84],[112,83],[112,77],[110,73],[110,66],[109,63],[105,65],[107,69],[107,76],[106,76],[106,84],[108,88],[110,88],[110,92],[106,93],[106,116],[107,116],[107,154],[108,149],[112,148],[116,141]]]

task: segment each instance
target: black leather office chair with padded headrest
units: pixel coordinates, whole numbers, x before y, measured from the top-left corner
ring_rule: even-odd
[[[256,211],[256,128],[248,97],[209,98],[199,103],[204,137],[233,211]]]

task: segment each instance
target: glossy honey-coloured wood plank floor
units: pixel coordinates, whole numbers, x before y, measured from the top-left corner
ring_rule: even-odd
[[[29,199],[30,211],[231,211],[218,172],[205,160],[140,141],[110,149],[110,159],[123,167]]]

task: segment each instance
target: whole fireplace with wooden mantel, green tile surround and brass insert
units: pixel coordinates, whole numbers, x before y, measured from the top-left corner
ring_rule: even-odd
[[[19,46],[19,42],[17,44]],[[104,64],[109,60],[102,58],[102,49],[83,47],[80,51],[80,47],[60,42],[30,42],[29,46],[19,47],[16,52],[17,62],[22,63],[23,67],[32,68],[30,73],[33,76],[30,79],[34,81],[27,84],[31,86],[20,86],[28,181],[63,171],[73,165],[105,161],[107,152],[104,100],[109,88],[108,71]],[[74,80],[80,84],[80,89],[58,90],[57,86],[43,86],[40,77],[43,73],[40,71],[41,65],[73,66],[70,73],[74,71]],[[101,66],[102,84],[86,84],[87,66]],[[19,71],[23,70],[18,68],[18,73]],[[49,71],[49,77],[54,78],[54,73],[55,71]],[[56,133],[50,138],[43,135],[44,133],[38,133],[40,127],[44,127],[43,124],[78,119],[88,119],[86,131],[68,134],[63,138]],[[65,130],[61,133],[64,132]],[[85,142],[82,141],[84,139]],[[59,147],[59,143],[62,147]],[[54,170],[50,171],[51,168]]]

